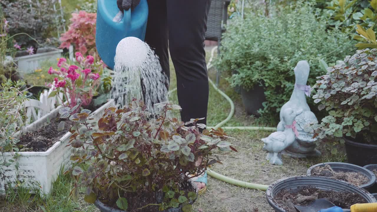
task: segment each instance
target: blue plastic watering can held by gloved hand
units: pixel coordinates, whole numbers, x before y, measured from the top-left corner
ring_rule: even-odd
[[[96,47],[104,63],[114,69],[115,50],[126,37],[144,40],[148,20],[147,0],[141,0],[133,11],[120,16],[116,0],[98,0]]]

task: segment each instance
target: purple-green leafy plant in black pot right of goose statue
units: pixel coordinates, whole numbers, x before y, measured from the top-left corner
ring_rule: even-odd
[[[348,162],[377,163],[377,49],[359,50],[328,68],[315,85],[318,109],[328,116],[316,126],[317,138],[345,143]]]

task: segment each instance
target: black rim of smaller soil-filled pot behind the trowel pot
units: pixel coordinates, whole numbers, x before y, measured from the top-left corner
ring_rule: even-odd
[[[368,177],[369,182],[359,186],[360,188],[363,188],[363,189],[368,189],[368,188],[372,187],[374,185],[375,181],[376,181],[376,177],[373,174],[373,172],[369,171],[368,169],[366,169],[364,167],[356,166],[356,165],[350,164],[350,163],[337,163],[337,162],[319,163],[319,164],[316,164],[316,165],[310,167],[307,171],[307,175],[312,176],[311,171],[315,167],[325,166],[325,165],[329,165],[331,167],[331,169],[333,169],[336,172],[337,171],[340,171],[340,172],[359,172],[359,173],[365,175],[366,177]]]

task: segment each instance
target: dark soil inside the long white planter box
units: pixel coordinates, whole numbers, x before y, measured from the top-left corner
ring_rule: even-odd
[[[19,148],[27,148],[30,152],[44,152],[49,149],[59,141],[59,139],[66,134],[71,127],[71,125],[66,123],[64,130],[58,132],[60,121],[66,121],[59,117],[60,115],[50,120],[49,123],[46,123],[46,125],[38,131],[28,132],[25,135],[22,135],[20,137],[20,142],[18,142]]]

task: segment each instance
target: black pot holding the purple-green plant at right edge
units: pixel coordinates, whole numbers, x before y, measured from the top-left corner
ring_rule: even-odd
[[[377,145],[345,141],[348,163],[358,166],[377,164]]]

